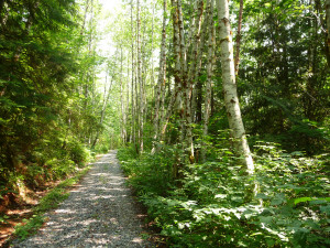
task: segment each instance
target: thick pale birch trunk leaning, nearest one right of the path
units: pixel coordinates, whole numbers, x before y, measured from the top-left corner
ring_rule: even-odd
[[[239,97],[237,93],[232,33],[229,21],[229,2],[228,0],[217,0],[218,20],[220,25],[220,46],[221,46],[221,68],[222,68],[222,88],[224,95],[226,109],[228,115],[229,127],[234,143],[237,155],[242,157],[242,162],[246,166],[249,174],[254,173],[254,163],[251,157]]]

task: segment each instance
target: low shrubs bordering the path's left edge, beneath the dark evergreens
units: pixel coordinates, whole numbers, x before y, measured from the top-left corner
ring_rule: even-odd
[[[18,197],[25,187],[43,188],[46,182],[63,180],[92,159],[90,151],[73,137],[50,140],[42,140],[31,152],[12,157],[11,164],[0,159],[0,188],[4,188],[0,191],[0,204],[11,192]]]

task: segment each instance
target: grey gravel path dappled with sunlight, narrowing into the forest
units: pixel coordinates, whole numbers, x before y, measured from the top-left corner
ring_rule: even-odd
[[[40,231],[14,247],[152,247],[111,151],[96,162]]]

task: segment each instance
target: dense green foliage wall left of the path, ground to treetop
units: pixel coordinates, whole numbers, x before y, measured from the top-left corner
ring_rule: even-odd
[[[86,48],[94,26],[81,30],[80,12],[74,0],[0,3],[0,196],[64,179],[90,159],[86,137],[98,116],[81,91],[100,58]]]

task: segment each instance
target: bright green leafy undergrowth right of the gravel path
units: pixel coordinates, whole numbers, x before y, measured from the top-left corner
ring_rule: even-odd
[[[329,247],[329,154],[306,158],[258,143],[256,171],[248,177],[224,149],[215,161],[186,164],[174,181],[176,152],[166,148],[136,159],[119,151],[169,247]],[[251,185],[258,191],[249,201]]]

